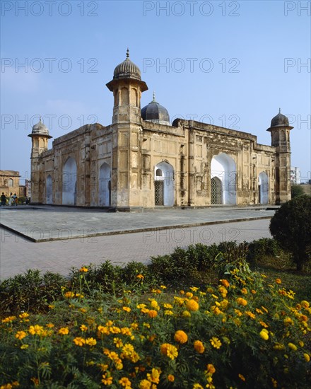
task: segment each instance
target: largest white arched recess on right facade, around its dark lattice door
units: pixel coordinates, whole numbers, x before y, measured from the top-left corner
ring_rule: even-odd
[[[219,202],[219,189],[216,194],[217,188],[219,188],[219,181],[213,180],[218,178],[221,181],[221,202]],[[213,180],[213,181],[212,181]],[[212,190],[214,192],[212,192]],[[213,193],[216,197],[213,197]],[[212,202],[218,201],[218,202]],[[233,158],[228,154],[220,153],[217,156],[213,156],[211,160],[211,204],[236,204],[237,203],[237,191],[236,191],[236,166]]]

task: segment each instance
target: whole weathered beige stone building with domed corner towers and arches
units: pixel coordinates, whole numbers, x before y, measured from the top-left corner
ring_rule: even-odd
[[[32,138],[31,192],[37,204],[136,208],[212,204],[281,204],[291,198],[288,118],[278,112],[257,137],[194,120],[176,119],[153,100],[141,109],[148,87],[127,58],[107,83],[112,124],[86,124],[54,139],[40,120]]]

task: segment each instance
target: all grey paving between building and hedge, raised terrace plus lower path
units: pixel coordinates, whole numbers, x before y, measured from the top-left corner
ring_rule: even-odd
[[[187,248],[188,245],[195,243],[210,245],[223,240],[242,242],[270,238],[269,219],[266,218],[274,214],[272,210],[243,210],[237,207],[184,211],[165,209],[145,211],[141,214],[109,214],[86,209],[82,211],[81,209],[59,211],[47,209],[42,211],[43,218],[40,219],[37,212],[38,210],[21,208],[19,211],[1,209],[1,223],[4,224],[4,221],[8,223],[10,219],[14,219],[15,226],[18,226],[16,220],[23,223],[20,229],[38,228],[38,231],[40,229],[44,231],[43,228],[51,226],[50,228],[65,228],[66,231],[70,231],[71,228],[73,231],[84,229],[85,232],[80,233],[78,238],[73,238],[67,233],[67,238],[64,234],[61,240],[35,243],[6,228],[0,228],[1,280],[23,273],[27,269],[68,275],[73,267],[90,263],[99,265],[105,260],[111,260],[115,265],[124,265],[129,261],[148,263],[151,256],[169,254],[177,246]],[[146,218],[143,218],[143,215]],[[259,217],[265,219],[258,219]],[[236,221],[236,219],[249,220]],[[225,222],[225,220],[231,221]],[[185,221],[190,225],[182,228],[174,227],[174,225],[187,224],[184,223]],[[199,226],[200,221],[211,224]],[[122,227],[123,231],[135,231],[143,226],[146,226],[146,231],[121,233]],[[150,226],[156,226],[158,229],[151,231],[148,229]],[[160,227],[163,229],[159,229]],[[97,228],[98,231],[110,235],[86,236],[86,232],[91,228]],[[113,234],[113,231],[117,233]]]

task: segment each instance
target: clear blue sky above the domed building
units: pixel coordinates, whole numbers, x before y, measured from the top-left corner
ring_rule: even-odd
[[[213,121],[260,144],[271,144],[281,108],[295,127],[291,166],[310,179],[310,16],[310,1],[2,0],[1,169],[30,178],[39,115],[54,138],[110,124],[105,84],[129,47],[149,88],[141,107],[155,91],[171,119]]]

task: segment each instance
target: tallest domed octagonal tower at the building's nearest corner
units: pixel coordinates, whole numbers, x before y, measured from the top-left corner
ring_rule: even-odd
[[[141,93],[148,89],[129,49],[107,88],[114,95],[111,206],[126,211],[141,207]]]

